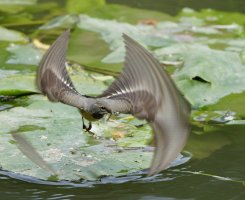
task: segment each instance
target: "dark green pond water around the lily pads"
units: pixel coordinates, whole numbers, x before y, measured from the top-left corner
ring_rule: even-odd
[[[59,2],[64,4],[64,1]],[[156,3],[149,0],[108,2],[126,2],[130,6],[164,11],[172,15],[186,6],[197,10],[212,7],[245,12],[242,0],[227,0],[222,1],[222,4],[209,0],[198,3],[177,0]],[[14,28],[31,33],[36,26],[29,24],[27,27],[20,25]],[[13,107],[16,104],[5,106]],[[242,121],[244,115],[241,115],[240,119]],[[99,181],[49,182],[0,171],[0,199],[242,200],[245,199],[244,133],[244,122],[229,125],[217,121],[193,122],[192,133],[185,148],[186,152],[192,154],[191,160],[149,178],[136,173],[117,178],[104,177]]]

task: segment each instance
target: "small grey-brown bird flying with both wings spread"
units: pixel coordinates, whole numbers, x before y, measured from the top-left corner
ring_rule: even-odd
[[[190,130],[190,106],[171,78],[144,47],[123,34],[126,56],[121,75],[98,97],[82,95],[66,70],[69,35],[70,30],[62,33],[43,56],[37,72],[38,89],[52,102],[78,108],[89,121],[113,113],[145,119],[156,144],[148,175],[166,169],[183,149]],[[86,130],[90,128],[91,123]]]

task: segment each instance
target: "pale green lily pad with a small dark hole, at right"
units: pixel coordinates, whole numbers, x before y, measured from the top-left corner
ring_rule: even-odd
[[[245,67],[237,53],[183,44],[155,53],[158,57],[164,54],[183,57],[184,64],[173,78],[194,107],[213,104],[226,95],[244,91]]]

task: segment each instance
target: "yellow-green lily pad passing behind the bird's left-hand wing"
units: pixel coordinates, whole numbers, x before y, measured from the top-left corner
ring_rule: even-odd
[[[73,67],[73,70],[68,69],[71,72],[71,79],[74,82],[75,87],[82,94],[86,95],[98,95],[106,89],[104,79],[100,80],[103,75],[90,74],[81,70],[80,66]],[[1,71],[0,71],[1,72]],[[16,71],[3,70],[3,77],[0,77],[0,95],[2,96],[20,96],[32,93],[37,93],[35,84],[36,74],[16,74]],[[5,77],[4,77],[5,76]],[[108,77],[106,81],[113,80],[112,77]]]

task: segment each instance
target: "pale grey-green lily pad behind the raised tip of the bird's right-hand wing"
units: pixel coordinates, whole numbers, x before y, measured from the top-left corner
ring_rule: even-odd
[[[105,63],[120,63],[124,61],[123,33],[136,38],[145,46],[159,47],[174,43],[174,40],[171,40],[168,36],[157,35],[157,30],[153,26],[132,25],[115,20],[92,18],[87,15],[80,15],[79,19],[79,28],[99,33],[103,40],[110,45],[110,49],[113,52],[102,59],[102,62]]]

